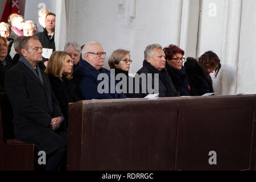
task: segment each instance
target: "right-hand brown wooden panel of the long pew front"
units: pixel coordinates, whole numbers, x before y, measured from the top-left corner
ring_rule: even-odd
[[[251,113],[252,107],[187,110],[178,125],[176,169],[249,169]],[[208,163],[209,151],[216,151],[217,165]]]

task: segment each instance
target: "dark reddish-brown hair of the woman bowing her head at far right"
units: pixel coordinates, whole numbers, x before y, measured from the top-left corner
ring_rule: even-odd
[[[217,77],[220,71],[220,59],[213,51],[207,51],[199,57],[199,63],[203,64],[207,69],[214,69],[214,76]]]

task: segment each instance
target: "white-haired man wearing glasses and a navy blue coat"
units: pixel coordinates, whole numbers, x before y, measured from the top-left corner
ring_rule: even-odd
[[[73,81],[80,89],[82,99],[112,99],[112,98],[126,98],[125,94],[118,94],[115,92],[115,81],[114,84],[110,82],[110,72],[108,69],[102,68],[104,65],[106,52],[98,42],[88,42],[82,48],[82,60],[73,72]],[[103,74],[101,74],[103,73]],[[107,85],[104,85],[104,90],[107,86],[107,92],[102,92],[102,77],[107,78]],[[99,79],[98,79],[99,77]],[[114,90],[114,91],[113,91]]]

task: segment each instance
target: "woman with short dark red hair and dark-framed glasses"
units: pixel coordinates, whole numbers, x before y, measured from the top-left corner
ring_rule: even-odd
[[[166,68],[175,88],[180,92],[180,96],[190,96],[188,76],[183,67],[184,51],[173,44],[164,48],[163,51],[166,54]]]

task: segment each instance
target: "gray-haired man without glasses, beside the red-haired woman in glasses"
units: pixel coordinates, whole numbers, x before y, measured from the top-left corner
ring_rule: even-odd
[[[150,93],[148,89],[153,89],[155,94],[159,93],[159,97],[179,96],[179,92],[176,91],[167,72],[165,57],[166,55],[164,54],[162,46],[159,44],[151,44],[146,47],[144,51],[143,67],[137,72],[140,76],[146,76],[146,81],[143,82],[140,80],[139,82],[139,91],[142,97]],[[148,84],[151,84],[152,88],[150,88]],[[155,90],[155,87],[158,87],[158,90]],[[145,93],[142,92],[144,89],[146,90]]]

